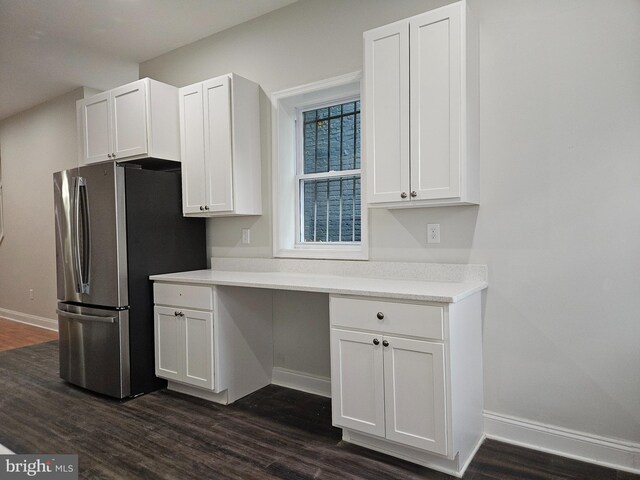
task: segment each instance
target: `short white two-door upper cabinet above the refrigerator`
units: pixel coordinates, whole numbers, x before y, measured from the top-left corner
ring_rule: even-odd
[[[144,78],[78,100],[81,164],[180,160],[178,89]]]

